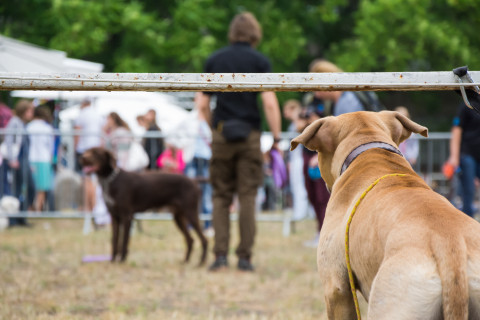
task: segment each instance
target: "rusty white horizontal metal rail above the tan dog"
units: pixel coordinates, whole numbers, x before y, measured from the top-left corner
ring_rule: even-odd
[[[471,71],[473,79],[480,71]],[[0,72],[0,91],[425,91],[458,90],[451,71],[353,73]]]

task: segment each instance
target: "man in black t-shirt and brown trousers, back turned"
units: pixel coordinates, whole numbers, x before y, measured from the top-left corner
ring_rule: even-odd
[[[253,14],[236,15],[230,23],[230,45],[213,53],[207,60],[207,73],[271,72],[269,60],[255,47],[262,38],[260,24]],[[228,266],[230,241],[229,207],[235,192],[239,199],[240,243],[236,249],[239,270],[253,271],[251,263],[255,240],[255,199],[262,183],[263,158],[260,150],[261,117],[257,92],[218,92],[217,105],[210,115],[210,97],[198,99],[199,111],[211,119],[212,159],[210,179],[213,187],[213,228],[215,262],[210,271]],[[274,92],[262,92],[263,109],[277,148],[280,141],[281,115]]]

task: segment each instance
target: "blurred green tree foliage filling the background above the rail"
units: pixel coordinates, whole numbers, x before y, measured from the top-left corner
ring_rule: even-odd
[[[228,43],[232,17],[251,11],[274,72],[306,72],[318,57],[346,71],[479,70],[478,8],[476,0],[1,1],[0,34],[105,72],[201,72]],[[425,110],[442,102],[422,97]]]

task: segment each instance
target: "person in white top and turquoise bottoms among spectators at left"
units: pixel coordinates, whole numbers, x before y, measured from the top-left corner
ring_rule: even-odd
[[[30,137],[29,161],[35,182],[35,211],[42,211],[53,187],[52,159],[55,147],[51,114],[46,106],[38,106],[33,112],[33,120],[27,125]],[[50,208],[53,209],[53,208]]]

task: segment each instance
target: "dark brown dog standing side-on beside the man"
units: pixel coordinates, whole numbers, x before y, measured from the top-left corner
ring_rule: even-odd
[[[192,180],[179,174],[134,173],[118,169],[115,157],[104,148],[87,150],[82,155],[81,163],[84,172],[97,174],[112,217],[112,262],[117,255],[120,255],[120,261],[127,257],[134,214],[161,207],[172,210],[175,223],[185,237],[185,262],[189,260],[193,246],[193,238],[188,232],[189,224],[202,242],[200,264],[205,262],[208,243],[198,218],[199,190]]]

